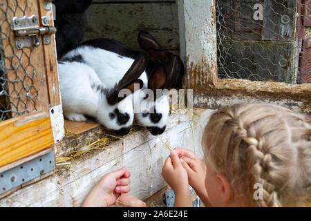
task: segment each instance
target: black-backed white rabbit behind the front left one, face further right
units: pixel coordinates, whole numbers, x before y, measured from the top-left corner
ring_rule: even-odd
[[[145,39],[142,39],[140,43],[144,44]],[[104,73],[107,69],[113,67],[115,70],[120,69],[116,73],[122,73],[122,66],[129,66],[133,58],[141,54],[145,52],[130,48],[113,39],[93,39],[68,52],[62,60],[84,61],[94,68],[101,81],[106,81]],[[133,96],[135,118],[140,124],[147,126],[153,135],[163,133],[166,128],[169,120],[169,99],[167,93],[161,93],[160,96],[155,97],[149,96],[150,92],[156,95],[156,89],[173,88],[173,85],[176,85],[173,75],[177,74],[176,70],[179,66],[180,63],[173,56],[165,64],[148,62],[146,73],[140,76],[144,82],[144,88]]]

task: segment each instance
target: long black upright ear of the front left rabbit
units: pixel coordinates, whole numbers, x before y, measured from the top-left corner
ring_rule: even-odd
[[[134,79],[138,79],[144,72],[148,64],[148,55],[145,52],[140,52],[138,57],[135,59],[129,70],[125,73],[122,79],[117,84],[118,88],[124,88],[129,82]]]

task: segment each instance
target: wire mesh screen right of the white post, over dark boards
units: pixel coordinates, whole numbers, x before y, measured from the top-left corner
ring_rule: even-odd
[[[216,0],[218,77],[310,83],[305,11],[294,0]]]

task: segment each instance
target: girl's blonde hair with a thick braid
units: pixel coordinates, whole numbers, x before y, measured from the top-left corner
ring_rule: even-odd
[[[203,135],[205,160],[249,206],[305,206],[311,199],[311,127],[302,115],[269,104],[236,104],[214,113]],[[262,198],[254,199],[260,184]]]

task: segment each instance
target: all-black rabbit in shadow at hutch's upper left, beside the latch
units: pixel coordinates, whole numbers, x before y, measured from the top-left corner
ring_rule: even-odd
[[[86,9],[91,6],[92,0],[53,0],[55,5],[57,28],[55,34],[57,56],[77,46],[86,32]]]

